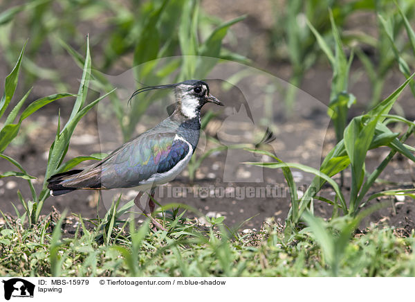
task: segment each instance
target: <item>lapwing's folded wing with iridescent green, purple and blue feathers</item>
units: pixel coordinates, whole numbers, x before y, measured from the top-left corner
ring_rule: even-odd
[[[175,133],[145,134],[83,170],[53,175],[48,179],[48,188],[53,195],[60,195],[78,188],[129,188],[147,184],[156,175],[172,170],[189,152],[189,144]]]

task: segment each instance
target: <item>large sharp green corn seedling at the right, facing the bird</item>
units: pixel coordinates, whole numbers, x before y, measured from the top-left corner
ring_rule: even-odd
[[[299,163],[284,163],[281,159],[278,159],[274,154],[261,150],[249,150],[250,152],[257,152],[261,154],[267,154],[276,160],[271,163],[249,163],[255,166],[263,166],[266,168],[282,168],[284,177],[291,190],[291,209],[288,213],[287,224],[293,225],[299,222],[302,217],[302,213],[308,208],[313,200],[320,199],[323,202],[333,205],[333,215],[337,215],[337,209],[340,208],[344,215],[350,215],[356,217],[360,212],[362,206],[366,204],[366,201],[372,199],[369,197],[365,199],[369,188],[374,184],[374,181],[378,179],[380,173],[385,169],[389,161],[396,152],[403,154],[404,157],[415,161],[415,157],[409,150],[413,148],[405,145],[405,141],[414,131],[414,123],[407,121],[403,118],[396,116],[389,116],[389,111],[396,102],[398,96],[402,93],[403,89],[412,80],[411,75],[403,85],[401,85],[393,94],[379,103],[374,109],[362,116],[356,116],[351,120],[349,125],[344,129],[344,138],[339,141],[335,148],[333,148],[329,154],[324,158],[320,169],[314,169],[308,166],[304,166]],[[387,118],[393,118],[394,121],[401,121],[409,125],[404,134],[399,136],[398,133],[394,133],[387,127],[390,122]],[[378,165],[373,172],[368,172],[365,169],[365,158],[367,151],[378,148],[380,146],[387,146],[390,151],[387,157]],[[338,174],[348,166],[351,166],[351,193],[349,203],[347,204],[344,199],[344,195],[340,190],[340,187],[331,178]],[[293,175],[291,169],[299,169],[304,172],[309,172],[315,175],[310,186],[308,186],[306,192],[297,199],[297,186],[293,181]],[[335,199],[329,200],[324,197],[319,197],[317,193],[321,190],[322,185],[328,182],[335,190]]]

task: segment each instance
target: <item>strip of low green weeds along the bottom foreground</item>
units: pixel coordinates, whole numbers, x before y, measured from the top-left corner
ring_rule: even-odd
[[[342,239],[342,218],[325,227],[333,233],[319,238],[315,225],[295,236],[265,222],[261,230],[232,232],[220,223],[205,227],[195,220],[167,213],[166,231],[146,222],[112,219],[80,220],[57,212],[33,229],[20,220],[1,221],[1,276],[414,276],[415,235],[405,229],[372,225]],[[116,227],[110,229],[111,225]],[[340,226],[340,227],[339,227]],[[321,233],[320,233],[321,235]],[[335,263],[333,263],[335,260]]]

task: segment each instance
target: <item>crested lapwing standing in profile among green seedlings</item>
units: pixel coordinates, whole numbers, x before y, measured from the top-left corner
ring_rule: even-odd
[[[137,187],[135,204],[150,189],[149,209],[153,213],[156,186],[172,181],[189,163],[199,142],[201,108],[206,103],[223,104],[210,94],[202,80],[186,80],[172,85],[144,87],[137,94],[153,89],[174,89],[176,107],[172,114],[156,127],[124,143],[102,161],[83,169],[69,170],[48,179],[50,195],[57,196],[80,189],[111,189]],[[130,98],[130,100],[131,100]],[[149,215],[158,229],[163,227]]]

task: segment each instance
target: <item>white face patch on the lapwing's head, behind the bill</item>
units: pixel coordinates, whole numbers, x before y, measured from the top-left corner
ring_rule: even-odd
[[[206,85],[199,85],[201,91],[197,93],[194,91],[194,85],[180,85],[178,87],[178,98],[181,101],[181,112],[187,118],[195,118],[199,112],[200,100],[205,96],[208,87]]]

